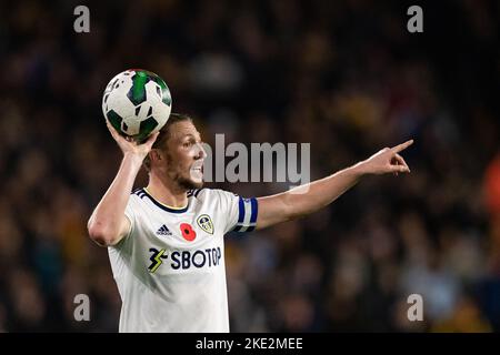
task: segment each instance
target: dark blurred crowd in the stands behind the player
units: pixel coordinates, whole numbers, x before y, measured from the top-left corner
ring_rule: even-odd
[[[78,4],[89,33],[73,31]],[[208,143],[311,143],[311,179],[416,141],[411,174],[227,236],[231,331],[500,331],[500,6],[422,2],[423,33],[407,31],[408,6],[0,2],[0,331],[118,329],[108,253],[86,223],[121,160],[101,95],[128,68],[160,74]],[[77,294],[90,322],[74,321]],[[407,317],[411,294],[422,322]]]

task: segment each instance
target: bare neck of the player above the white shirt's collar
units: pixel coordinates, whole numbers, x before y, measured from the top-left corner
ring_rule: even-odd
[[[179,209],[188,205],[186,189],[170,180],[160,180],[157,175],[150,174],[149,184],[146,189],[154,200],[169,207]]]

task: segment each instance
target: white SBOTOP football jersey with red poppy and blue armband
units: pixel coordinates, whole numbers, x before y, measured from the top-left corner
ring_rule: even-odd
[[[146,189],[130,195],[130,232],[108,248],[120,332],[229,332],[223,236],[254,229],[257,200],[210,189],[188,197],[172,209]]]

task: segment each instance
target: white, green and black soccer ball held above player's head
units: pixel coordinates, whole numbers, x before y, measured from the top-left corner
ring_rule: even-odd
[[[159,131],[170,116],[172,98],[157,74],[129,69],[116,75],[106,87],[102,113],[123,136],[143,141]]]

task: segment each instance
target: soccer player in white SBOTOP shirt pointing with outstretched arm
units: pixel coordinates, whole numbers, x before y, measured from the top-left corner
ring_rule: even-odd
[[[122,301],[120,332],[229,332],[226,233],[313,213],[368,174],[410,172],[399,152],[412,141],[314,181],[303,193],[243,199],[202,189],[207,155],[189,116],[171,114],[142,144],[108,128],[123,159],[88,230],[109,251]],[[142,164],[148,186],[131,193]]]

